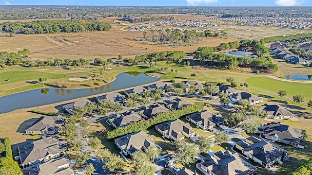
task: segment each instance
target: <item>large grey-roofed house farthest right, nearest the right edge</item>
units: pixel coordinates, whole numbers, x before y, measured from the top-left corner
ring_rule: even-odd
[[[306,137],[307,133],[305,130],[288,126],[280,122],[267,123],[261,130],[265,139],[292,145],[296,148],[304,148],[303,145],[300,145],[300,142]]]

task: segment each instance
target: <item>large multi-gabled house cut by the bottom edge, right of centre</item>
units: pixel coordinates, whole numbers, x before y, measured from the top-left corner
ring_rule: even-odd
[[[219,151],[200,163],[200,171],[208,175],[256,175],[257,168],[230,151]]]

